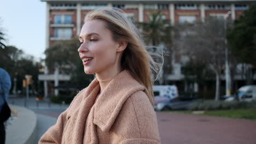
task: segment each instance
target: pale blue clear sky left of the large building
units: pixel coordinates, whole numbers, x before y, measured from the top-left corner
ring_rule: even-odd
[[[0,5],[0,27],[6,34],[7,45],[45,58],[46,3],[40,0],[4,0]]]

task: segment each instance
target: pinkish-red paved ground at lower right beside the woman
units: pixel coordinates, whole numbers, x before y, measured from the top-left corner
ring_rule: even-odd
[[[162,144],[256,144],[256,121],[157,112]]]

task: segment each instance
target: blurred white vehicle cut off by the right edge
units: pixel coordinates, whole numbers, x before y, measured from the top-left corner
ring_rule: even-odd
[[[238,89],[237,96],[239,100],[256,100],[256,85],[242,86]]]

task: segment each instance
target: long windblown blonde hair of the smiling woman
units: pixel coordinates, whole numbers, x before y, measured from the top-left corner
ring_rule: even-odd
[[[90,11],[85,22],[102,20],[112,32],[114,41],[126,41],[127,47],[121,56],[121,67],[128,70],[135,80],[146,88],[150,103],[154,105],[153,83],[150,77],[158,67],[146,50],[137,27],[128,19],[124,12],[116,8],[101,8]]]

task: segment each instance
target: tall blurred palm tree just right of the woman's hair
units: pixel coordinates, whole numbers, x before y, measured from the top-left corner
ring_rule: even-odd
[[[164,19],[161,11],[152,11],[148,15],[148,22],[139,22],[144,33],[144,41],[147,45],[153,46],[150,52],[164,53],[164,65],[160,73],[160,84],[166,83],[166,74],[171,71],[171,45],[172,45],[172,26],[170,20]],[[155,46],[155,47],[154,47]],[[162,63],[159,56],[153,57],[156,62]]]

